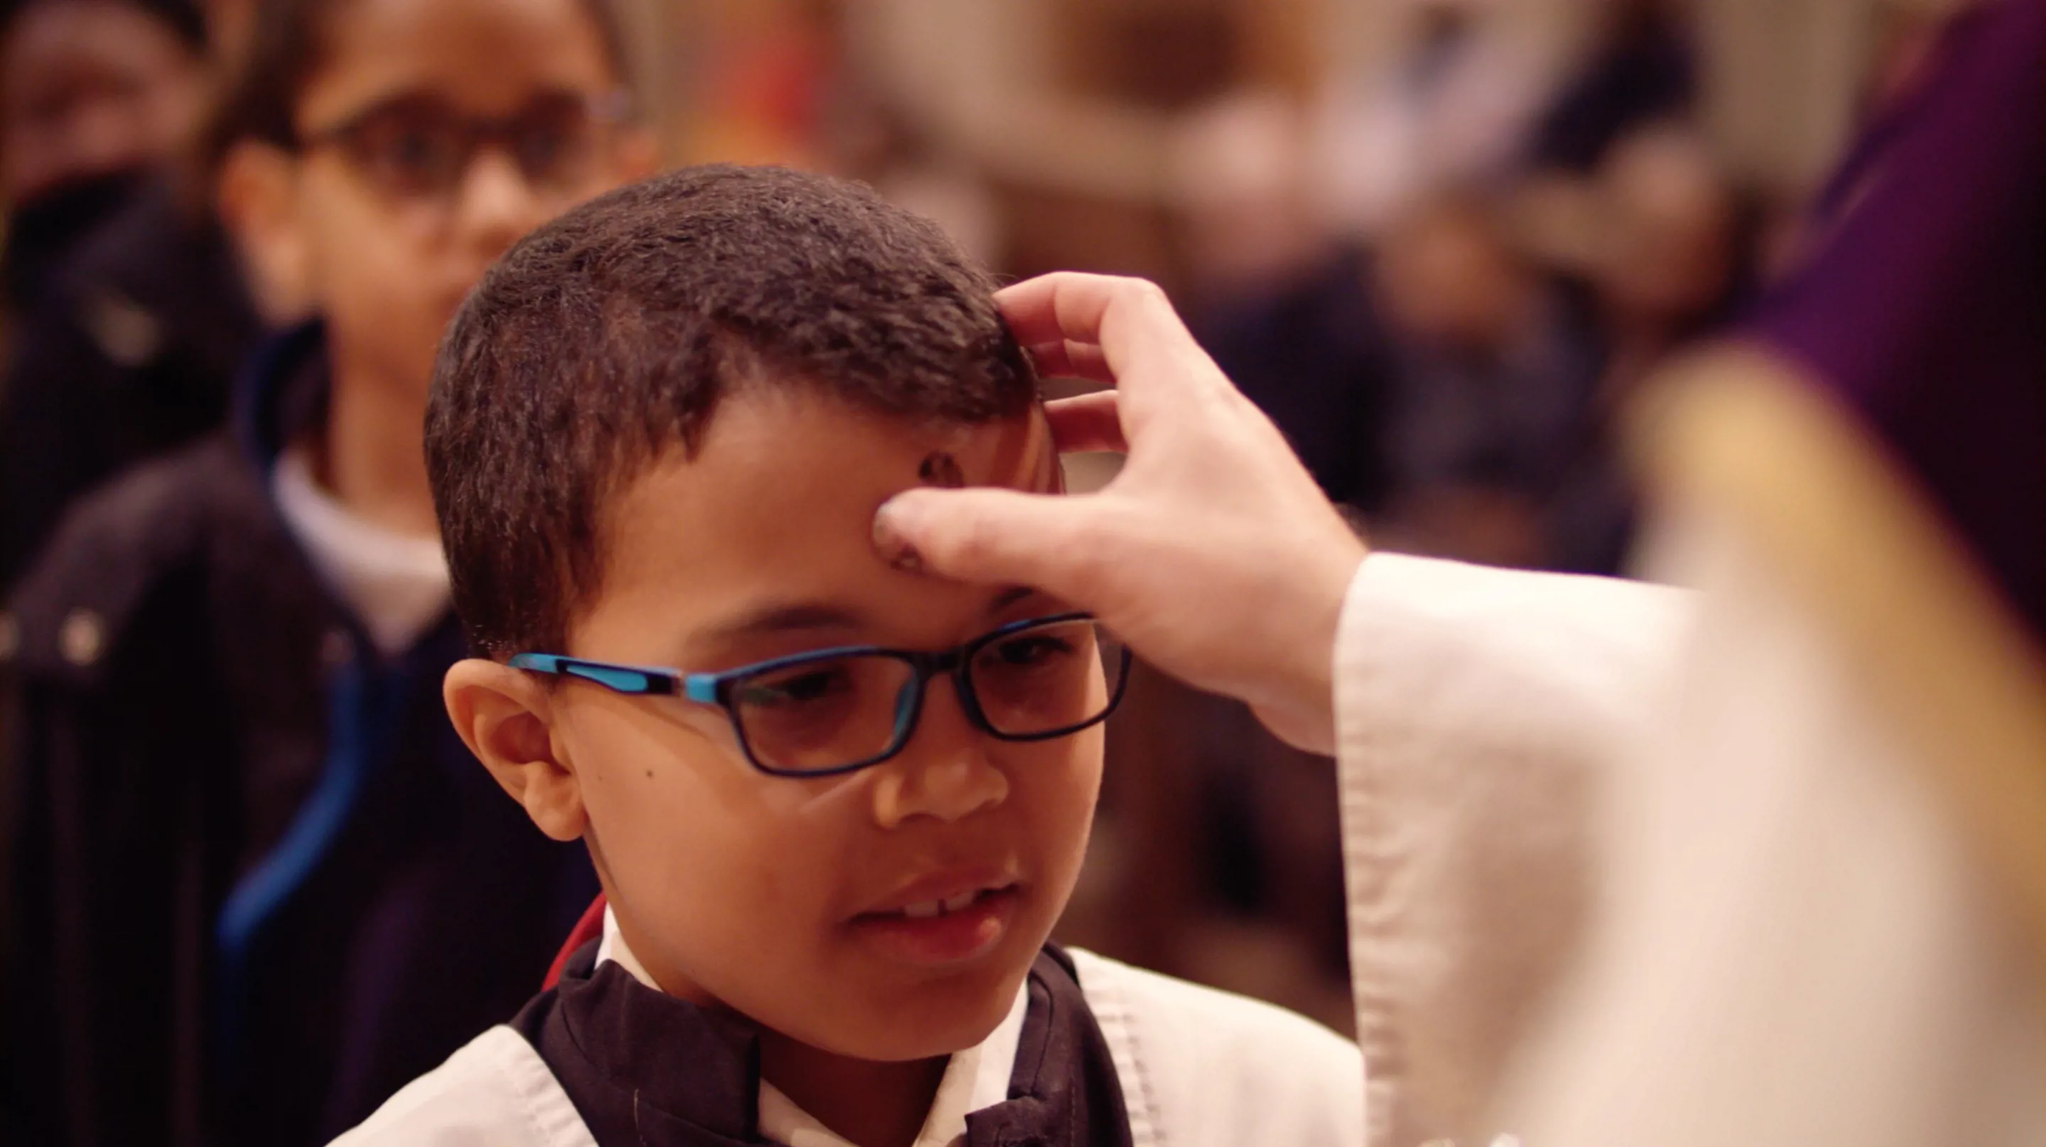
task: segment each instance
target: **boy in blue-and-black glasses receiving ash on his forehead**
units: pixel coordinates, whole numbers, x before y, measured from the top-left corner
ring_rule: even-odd
[[[1348,1043],[1046,947],[1127,662],[874,556],[902,489],[1060,480],[935,227],[782,170],[585,204],[462,305],[428,462],[448,714],[610,912],[346,1143],[1363,1141]]]

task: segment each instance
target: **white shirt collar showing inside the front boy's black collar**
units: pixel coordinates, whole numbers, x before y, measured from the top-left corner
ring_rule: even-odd
[[[638,957],[626,947],[618,932],[618,916],[604,910],[604,940],[597,945],[597,963],[614,961],[655,992],[659,983],[647,975]],[[1009,1014],[980,1041],[951,1055],[945,1063],[945,1077],[937,1084],[937,1098],[931,1100],[931,1114],[917,1133],[915,1147],[953,1147],[966,1139],[966,1114],[994,1106],[1009,1098],[1009,1077],[1015,1073],[1017,1041],[1023,1039],[1023,1014],[1029,1008],[1029,985],[1017,990],[1009,1004]],[[796,1106],[796,1100],[780,1088],[761,1080],[759,1129],[773,1143],[784,1147],[853,1147],[810,1112]]]

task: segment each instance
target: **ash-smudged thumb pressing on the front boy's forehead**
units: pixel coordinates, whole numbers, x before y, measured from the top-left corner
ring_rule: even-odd
[[[900,568],[980,585],[1029,585],[1072,603],[1086,597],[1082,544],[1093,497],[1003,489],[902,491],[874,511],[874,548]],[[1084,605],[1082,605],[1084,607]]]

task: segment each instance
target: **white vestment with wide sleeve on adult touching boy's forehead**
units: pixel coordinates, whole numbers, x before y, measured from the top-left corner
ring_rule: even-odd
[[[1649,554],[1696,591],[1393,554],[1350,587],[1371,1145],[2046,1143],[2046,1010],[1940,763],[1739,532]]]

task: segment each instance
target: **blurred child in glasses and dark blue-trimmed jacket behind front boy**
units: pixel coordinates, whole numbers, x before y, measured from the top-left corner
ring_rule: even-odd
[[[27,1141],[317,1143],[532,992],[595,891],[440,718],[440,329],[653,166],[599,0],[278,0],[221,200],[317,321],[233,433],[78,503],[20,581],[0,1102]],[[12,1131],[12,1129],[10,1129]]]

